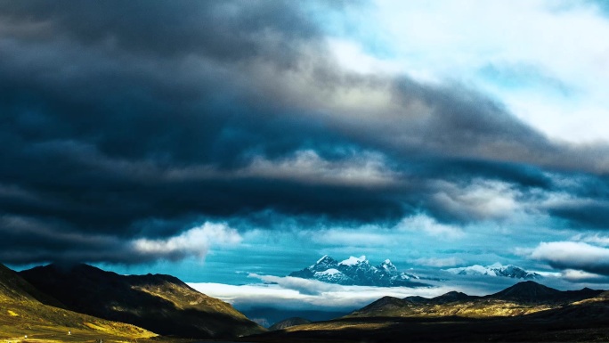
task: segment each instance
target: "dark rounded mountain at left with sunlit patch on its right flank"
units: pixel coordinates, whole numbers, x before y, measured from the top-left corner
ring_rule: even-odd
[[[90,265],[46,265],[20,276],[70,310],[162,335],[224,339],[264,331],[231,305],[169,275],[119,275]]]

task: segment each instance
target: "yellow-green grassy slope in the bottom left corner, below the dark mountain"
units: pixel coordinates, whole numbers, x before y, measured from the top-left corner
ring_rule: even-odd
[[[128,341],[156,334],[126,323],[116,323],[42,304],[58,304],[11,269],[0,265],[0,339]],[[71,335],[68,335],[71,331]]]

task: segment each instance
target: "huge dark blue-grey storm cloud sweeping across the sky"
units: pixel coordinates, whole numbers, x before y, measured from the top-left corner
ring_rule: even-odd
[[[524,200],[561,189],[548,172],[606,187],[603,149],[550,142],[481,94],[339,69],[300,6],[0,2],[3,261],[178,258],[133,241],[204,221],[492,219],[438,200],[480,180]]]

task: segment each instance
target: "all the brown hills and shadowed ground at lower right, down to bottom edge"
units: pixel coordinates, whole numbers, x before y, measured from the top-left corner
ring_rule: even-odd
[[[520,282],[485,297],[384,297],[332,321],[269,331],[256,341],[604,341],[609,292]]]

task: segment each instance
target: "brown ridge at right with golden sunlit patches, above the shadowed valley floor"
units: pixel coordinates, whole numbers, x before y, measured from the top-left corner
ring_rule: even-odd
[[[449,292],[435,298],[385,297],[347,317],[492,317],[532,314],[598,297],[603,290],[555,290],[537,282],[519,282],[485,297]]]

